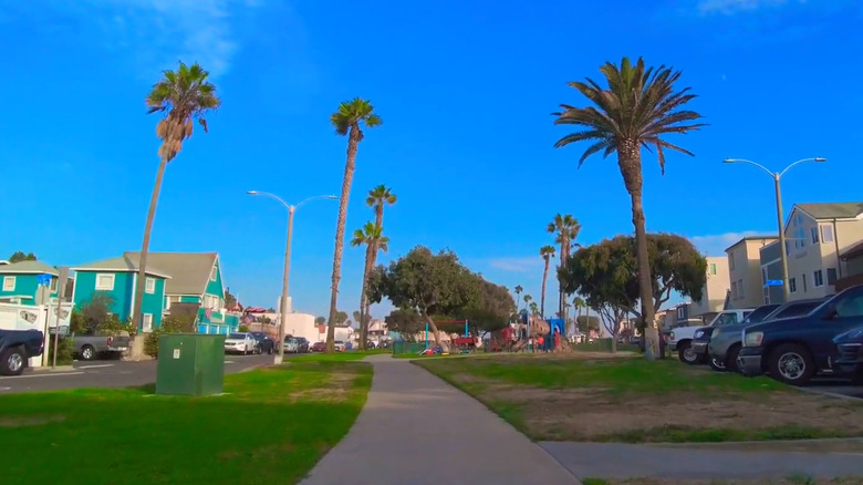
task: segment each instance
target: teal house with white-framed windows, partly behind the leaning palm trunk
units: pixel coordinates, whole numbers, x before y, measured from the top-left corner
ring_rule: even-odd
[[[149,332],[162,324],[167,272],[147,261],[147,277],[138,281],[137,256],[123,255],[117,258],[91,262],[72,268],[75,271],[72,301],[81,308],[96,295],[111,298],[111,312],[121,320],[128,320],[135,312],[135,289],[144,285],[143,313],[138,331]]]

